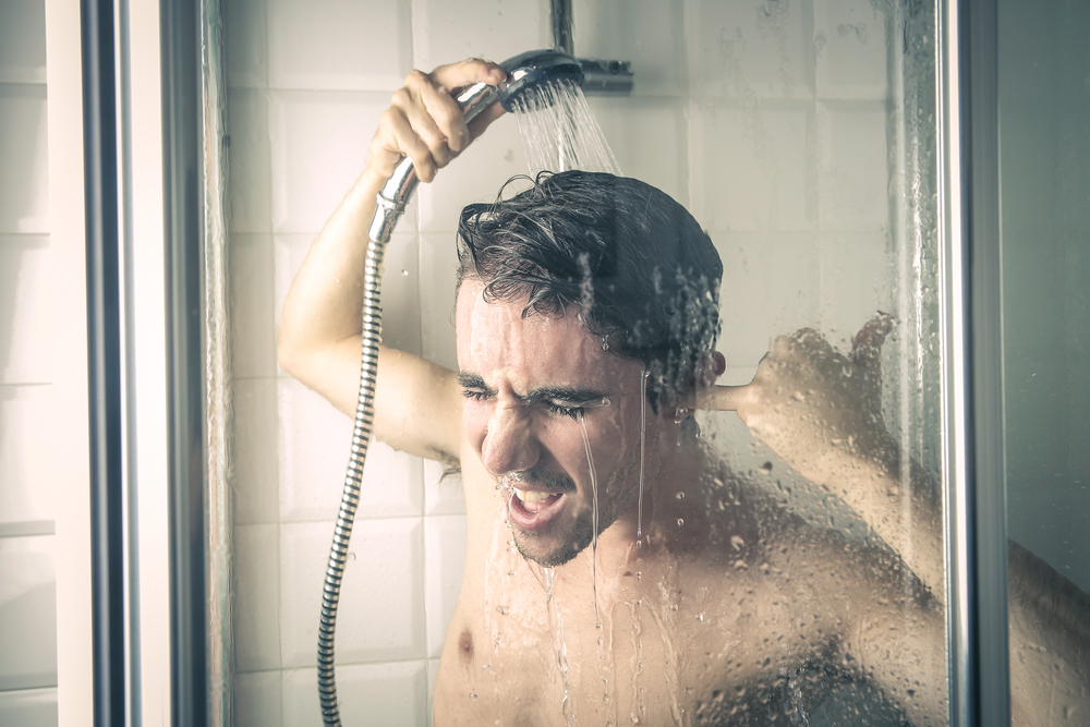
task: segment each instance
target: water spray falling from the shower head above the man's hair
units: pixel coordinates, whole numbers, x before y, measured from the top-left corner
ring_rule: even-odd
[[[583,89],[571,81],[536,85],[521,94],[514,107],[531,169],[620,174]]]

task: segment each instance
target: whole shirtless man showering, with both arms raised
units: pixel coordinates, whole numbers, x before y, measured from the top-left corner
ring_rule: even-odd
[[[292,286],[281,365],[346,413],[375,195],[405,156],[429,181],[501,113],[465,125],[449,89],[479,81],[504,72],[409,75]],[[911,724],[944,724],[940,505],[922,475],[898,481],[882,424],[892,322],[850,356],[813,331],[780,338],[753,383],[714,387],[722,267],[657,190],[543,178],[468,208],[460,239],[459,372],[384,349],[375,407],[376,436],[462,472],[467,565],[435,723],[794,724],[859,681]],[[772,478],[728,471],[693,436],[694,407],[737,411],[884,545],[814,528]],[[1013,553],[1016,722],[1086,718],[1086,599]]]

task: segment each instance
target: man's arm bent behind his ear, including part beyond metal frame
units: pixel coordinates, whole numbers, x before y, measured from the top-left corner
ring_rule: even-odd
[[[937,483],[915,462],[901,467],[882,421],[879,351],[892,326],[889,316],[868,323],[847,356],[812,330],[779,338],[751,384],[714,387],[699,403],[737,411],[803,476],[851,506],[944,603]],[[1090,597],[1014,542],[1009,566],[1012,722],[1083,724]]]

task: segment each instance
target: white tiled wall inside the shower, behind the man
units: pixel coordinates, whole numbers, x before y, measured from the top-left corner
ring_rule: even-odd
[[[724,383],[802,326],[844,347],[897,311],[893,19],[865,0],[576,0],[577,54],[631,60],[592,99],[626,174],[687,205],[725,264]],[[322,579],[350,422],[279,371],[275,331],[307,245],[363,168],[412,68],[550,45],[541,0],[226,0],[233,374],[235,715],[320,724]],[[385,340],[455,365],[453,229],[525,165],[497,122],[423,185],[387,253]],[[747,434],[727,417],[725,441]],[[428,722],[464,554],[457,477],[374,445],[338,620],[351,725]]]

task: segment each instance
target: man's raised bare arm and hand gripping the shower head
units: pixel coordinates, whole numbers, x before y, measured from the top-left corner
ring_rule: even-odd
[[[481,60],[410,73],[383,113],[363,173],[295,275],[277,336],[280,365],[350,416],[360,385],[363,272],[376,196],[404,157],[412,158],[421,181],[432,181],[502,113],[495,104],[467,125],[451,92],[506,77]],[[412,455],[456,457],[461,395],[451,372],[385,347],[378,368],[376,436]]]

